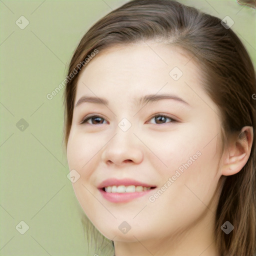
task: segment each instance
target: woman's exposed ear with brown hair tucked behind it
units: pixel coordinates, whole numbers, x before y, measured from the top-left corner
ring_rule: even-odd
[[[239,172],[247,162],[253,141],[252,126],[242,127],[238,136],[231,136],[228,140],[221,167],[222,175],[226,176]]]

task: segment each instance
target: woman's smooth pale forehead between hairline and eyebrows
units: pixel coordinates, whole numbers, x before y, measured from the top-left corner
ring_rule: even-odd
[[[201,71],[191,56],[163,43],[137,43],[102,50],[90,60],[77,81],[76,98],[91,96],[137,97],[201,90]]]

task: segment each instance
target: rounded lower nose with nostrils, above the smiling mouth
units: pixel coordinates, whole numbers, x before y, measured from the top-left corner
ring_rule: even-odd
[[[117,130],[104,147],[101,160],[106,164],[123,165],[143,160],[142,145],[131,131]]]

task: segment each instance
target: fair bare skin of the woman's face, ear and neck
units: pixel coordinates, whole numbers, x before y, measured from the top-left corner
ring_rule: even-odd
[[[169,75],[175,66],[183,72],[176,81]],[[243,143],[234,136],[221,154],[219,109],[200,77],[186,52],[154,42],[99,52],[79,76],[75,103],[83,95],[96,95],[109,104],[83,102],[74,108],[67,160],[80,178],[72,185],[91,222],[114,240],[116,256],[219,256],[213,230],[220,177],[246,163],[252,129],[244,127]],[[137,97],[162,93],[175,94],[189,105],[174,99],[134,103]],[[103,117],[102,122],[81,124],[88,114]],[[156,114],[177,122],[163,118],[157,123]],[[124,117],[131,123],[125,132],[117,125]],[[110,177],[133,178],[159,189],[198,151],[200,156],[153,202],[148,198],[155,191],[113,203],[97,189]],[[123,221],[131,227],[126,234],[118,228]]]

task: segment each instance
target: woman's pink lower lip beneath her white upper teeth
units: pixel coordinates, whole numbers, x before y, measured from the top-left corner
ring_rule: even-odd
[[[102,189],[99,189],[99,191],[102,194],[102,196],[110,202],[128,202],[135,198],[148,194],[153,189],[154,188],[146,191],[131,192],[131,193],[109,193]]]

